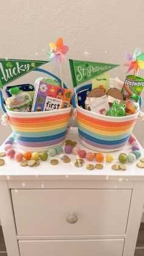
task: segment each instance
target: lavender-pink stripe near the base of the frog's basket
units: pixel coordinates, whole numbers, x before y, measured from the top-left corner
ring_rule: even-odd
[[[96,147],[96,148],[102,148],[102,149],[115,149],[115,148],[122,148],[124,147],[124,145],[127,144],[128,141],[124,141],[123,143],[121,144],[116,144],[116,145],[104,145],[104,144],[98,144],[96,142],[92,142],[88,139],[85,139],[85,137],[82,137],[80,134],[79,134],[79,137],[82,141],[84,141],[85,143],[89,144],[89,145],[92,145],[93,147]]]

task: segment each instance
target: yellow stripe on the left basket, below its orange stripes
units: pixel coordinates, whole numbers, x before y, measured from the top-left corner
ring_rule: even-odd
[[[57,121],[58,122],[58,121]],[[65,123],[62,123],[60,125],[52,125],[52,126],[45,126],[45,127],[20,127],[20,126],[13,126],[12,125],[12,128],[13,130],[15,131],[23,131],[23,132],[39,132],[39,131],[52,131],[52,130],[56,130],[56,129],[59,129],[59,128],[63,128],[65,126],[68,125],[68,121],[65,122]]]

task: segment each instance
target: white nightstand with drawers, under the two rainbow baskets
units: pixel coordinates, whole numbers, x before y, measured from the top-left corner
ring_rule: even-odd
[[[77,128],[71,128],[69,138],[79,142]],[[123,152],[131,153],[131,145]],[[75,167],[73,154],[71,163],[60,160],[52,166],[49,158],[38,167],[21,167],[5,157],[0,218],[8,256],[133,256],[144,169],[135,161],[126,164],[125,172],[112,170],[119,153],[113,153],[113,163],[104,161],[103,170],[87,170],[86,160],[83,167]]]

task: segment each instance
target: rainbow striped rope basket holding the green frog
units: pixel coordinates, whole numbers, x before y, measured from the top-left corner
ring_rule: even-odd
[[[90,86],[92,84],[79,87],[76,93]],[[77,109],[79,139],[85,147],[100,152],[112,152],[127,144],[139,112],[125,117],[110,117],[81,108],[74,98],[75,95],[72,102]]]

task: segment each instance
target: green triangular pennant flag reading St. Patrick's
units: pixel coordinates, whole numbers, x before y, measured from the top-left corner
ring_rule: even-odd
[[[82,84],[82,82],[87,82],[90,79],[95,78],[112,68],[116,68],[120,65],[101,63],[101,62],[92,62],[86,60],[72,60],[69,59],[71,77],[73,80],[73,87]]]

